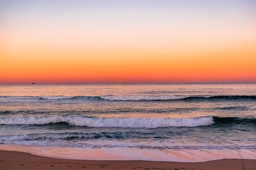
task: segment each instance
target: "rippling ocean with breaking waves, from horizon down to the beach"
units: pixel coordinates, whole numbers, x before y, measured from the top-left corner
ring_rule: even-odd
[[[124,160],[256,159],[256,84],[0,85],[0,143]]]

